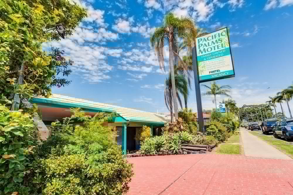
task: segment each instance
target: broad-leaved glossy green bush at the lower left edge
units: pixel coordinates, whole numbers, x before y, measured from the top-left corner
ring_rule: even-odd
[[[0,194],[3,194],[21,186],[38,131],[31,115],[21,110],[9,111],[0,105],[0,132]]]

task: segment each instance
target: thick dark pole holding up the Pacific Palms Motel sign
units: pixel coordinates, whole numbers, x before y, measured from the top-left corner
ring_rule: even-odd
[[[196,44],[194,44],[194,45],[196,45]],[[202,115],[200,84],[198,81],[198,73],[197,73],[197,60],[196,60],[195,46],[192,48],[192,65],[193,65],[193,73],[194,73],[194,85],[195,85],[195,95],[196,95],[196,104],[197,104],[198,125],[199,125],[200,132],[205,134],[203,115]]]

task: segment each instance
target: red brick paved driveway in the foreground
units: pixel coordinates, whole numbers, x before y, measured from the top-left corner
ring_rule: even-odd
[[[292,194],[293,161],[190,154],[127,159],[132,194]]]

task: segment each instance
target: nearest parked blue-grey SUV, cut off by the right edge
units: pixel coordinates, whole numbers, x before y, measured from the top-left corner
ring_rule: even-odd
[[[286,141],[293,138],[293,120],[282,120],[274,125],[273,134],[275,138],[284,137]]]

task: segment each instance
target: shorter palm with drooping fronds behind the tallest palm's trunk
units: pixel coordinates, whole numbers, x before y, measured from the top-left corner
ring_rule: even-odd
[[[187,80],[186,78],[184,77],[184,75],[178,75],[176,74],[175,75],[175,85],[176,85],[176,99],[178,100],[179,102],[179,105],[182,109],[182,102],[181,102],[181,99],[180,99],[180,96],[179,96],[179,93],[181,94],[186,94],[188,93],[188,84],[187,84]],[[173,105],[172,103],[174,102],[173,101],[173,93],[172,93],[172,82],[171,82],[171,73],[169,74],[169,78],[166,78],[166,81],[165,81],[165,104],[168,108],[168,110],[170,111],[171,113],[171,122],[173,122]]]

